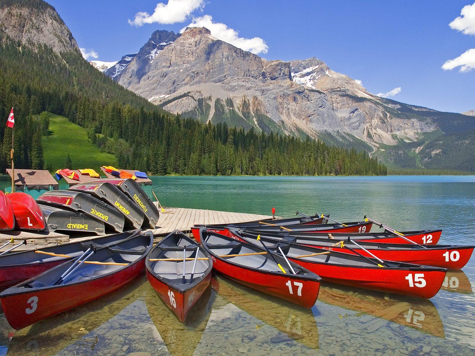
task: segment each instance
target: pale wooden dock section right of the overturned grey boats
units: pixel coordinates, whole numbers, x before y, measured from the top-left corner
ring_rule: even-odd
[[[269,218],[272,218],[272,216],[233,213],[218,210],[168,207],[165,208],[164,213],[160,213],[157,227],[153,230],[153,234],[166,234],[173,230],[190,230],[190,227],[195,224],[242,223]]]

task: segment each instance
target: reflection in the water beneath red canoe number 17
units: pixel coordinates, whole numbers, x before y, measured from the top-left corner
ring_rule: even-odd
[[[232,303],[296,342],[318,348],[318,329],[312,309],[260,293],[220,274],[214,275],[211,285],[218,290],[213,309]]]

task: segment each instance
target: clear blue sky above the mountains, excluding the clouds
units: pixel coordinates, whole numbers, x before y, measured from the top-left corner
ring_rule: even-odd
[[[371,93],[400,87],[392,99],[450,112],[475,109],[475,69],[441,68],[447,60],[475,48],[471,8],[453,25],[455,29],[449,26],[466,5],[474,4],[475,16],[473,0],[171,0],[186,1],[189,15],[176,11],[170,15],[163,11],[172,9],[165,7],[152,17],[139,17],[135,24],[141,26],[129,20],[133,22],[138,12],[153,14],[158,3],[166,6],[168,0],[47,1],[71,29],[79,47],[93,49],[103,61],[137,52],[156,29],[178,32],[209,15],[213,23],[225,24],[239,37],[259,37],[251,44],[242,43],[254,52],[261,50],[264,58],[316,56],[334,71],[361,80]],[[193,2],[200,6],[194,9]],[[154,19],[161,23],[146,23]],[[178,22],[169,23],[173,21]],[[469,56],[472,61],[475,49],[457,61]]]

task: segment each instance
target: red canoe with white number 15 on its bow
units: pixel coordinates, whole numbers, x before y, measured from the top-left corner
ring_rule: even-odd
[[[237,233],[235,237],[245,243],[251,241]],[[318,273],[323,281],[352,287],[430,299],[440,290],[447,272],[445,268],[378,261],[374,258],[328,251],[266,236],[259,236],[259,239],[270,250],[280,251],[278,250],[280,247],[290,261]],[[252,243],[257,245],[260,241],[253,239]]]

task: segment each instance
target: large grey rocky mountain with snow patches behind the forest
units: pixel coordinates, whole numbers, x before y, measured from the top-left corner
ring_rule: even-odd
[[[246,129],[312,137],[343,132],[375,147],[437,128],[431,120],[401,114],[315,57],[268,61],[206,28],[187,28],[181,35],[155,31],[130,62],[113,71],[106,74],[168,111]]]

